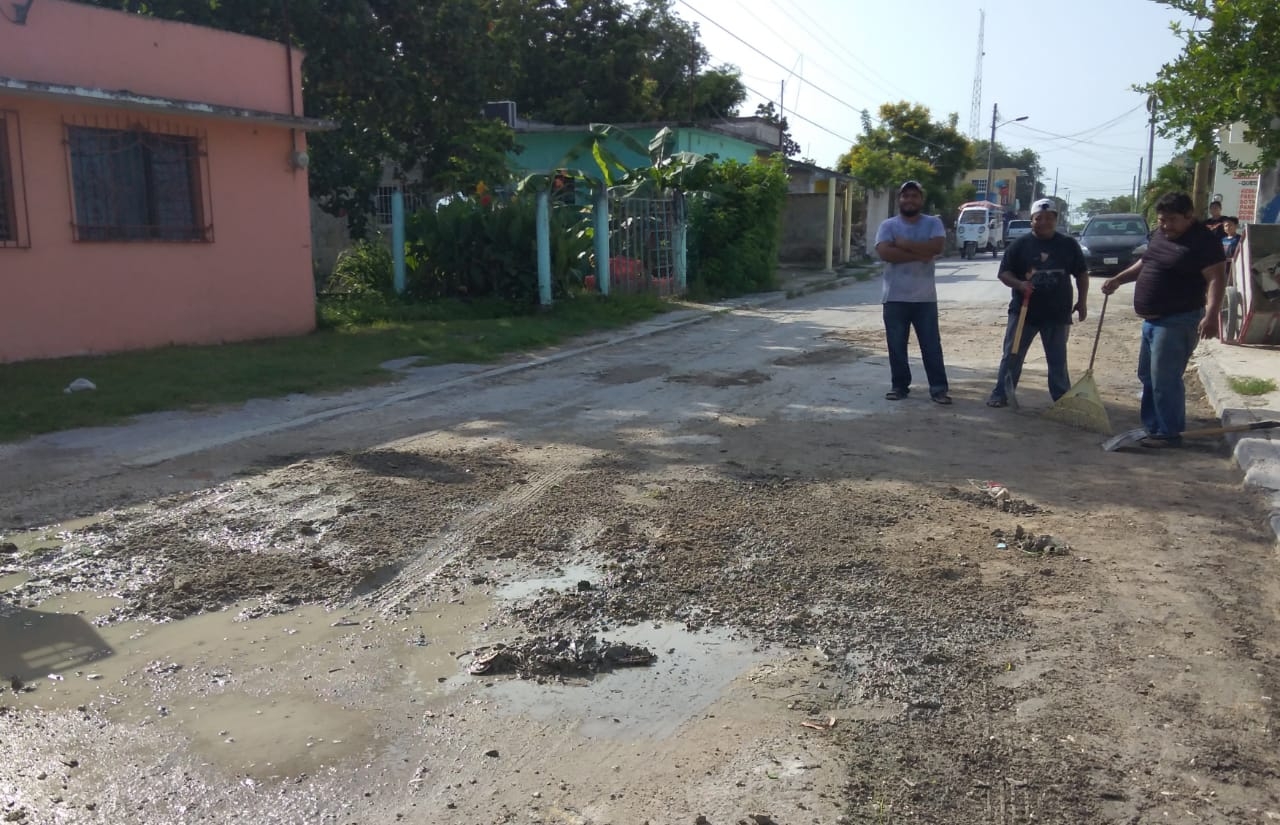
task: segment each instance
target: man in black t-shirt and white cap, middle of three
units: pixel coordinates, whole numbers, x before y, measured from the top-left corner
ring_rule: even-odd
[[[1005,327],[1005,347],[1000,357],[996,388],[987,399],[988,407],[1005,407],[1005,379],[1014,386],[1023,373],[1023,358],[1032,339],[1039,335],[1048,365],[1048,394],[1057,400],[1071,389],[1071,376],[1066,368],[1066,335],[1071,329],[1071,313],[1084,320],[1088,313],[1089,272],[1084,253],[1075,238],[1057,232],[1057,206],[1050,198],[1032,205],[1032,233],[1009,244],[1000,262],[1000,280],[1014,292],[1009,303],[1009,324]],[[1074,301],[1071,281],[1080,293]],[[1027,321],[1018,344],[1018,354],[1011,353],[1018,331],[1018,316],[1027,304]]]

